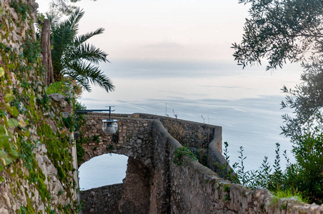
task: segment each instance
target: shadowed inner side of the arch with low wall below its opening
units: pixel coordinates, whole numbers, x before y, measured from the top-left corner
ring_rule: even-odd
[[[123,183],[81,192],[84,213],[149,213],[153,173],[151,167],[129,157]]]

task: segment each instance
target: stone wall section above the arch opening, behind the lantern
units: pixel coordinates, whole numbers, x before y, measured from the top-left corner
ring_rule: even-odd
[[[117,118],[118,131],[108,136],[102,131],[102,120],[108,118],[109,114],[104,113],[86,116],[86,126],[81,128],[80,137],[99,136],[99,140],[88,141],[82,145],[85,149],[84,161],[105,153],[117,153],[136,158],[145,165],[151,166],[151,158],[154,156],[154,144],[151,141],[152,120]]]

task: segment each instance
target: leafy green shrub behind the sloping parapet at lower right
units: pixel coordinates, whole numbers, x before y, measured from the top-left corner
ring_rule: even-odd
[[[267,188],[274,195],[282,198],[283,194],[297,196],[299,200],[309,203],[323,203],[323,133],[308,133],[299,137],[297,146],[293,147],[296,163],[287,160],[285,170],[280,167],[280,145],[277,143],[276,158],[274,165],[270,166],[267,157],[264,158],[258,170],[244,171],[243,161],[234,163],[239,180],[249,188]],[[242,155],[243,149],[240,148]],[[286,198],[286,197],[283,197]],[[289,197],[290,198],[290,197]]]

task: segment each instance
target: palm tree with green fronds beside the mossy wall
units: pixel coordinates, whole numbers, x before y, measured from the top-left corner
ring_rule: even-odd
[[[93,45],[86,44],[92,36],[102,34],[104,29],[76,36],[79,30],[79,21],[84,11],[79,8],[66,21],[59,22],[55,17],[51,19],[51,43],[53,49],[54,79],[61,80],[63,76],[74,78],[86,91],[91,91],[90,84],[104,88],[106,92],[114,91],[110,79],[99,69],[99,62],[109,62],[106,54]]]

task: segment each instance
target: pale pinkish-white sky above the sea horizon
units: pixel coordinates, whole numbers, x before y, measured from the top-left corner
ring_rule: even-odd
[[[37,0],[39,12],[49,0]],[[248,6],[237,0],[82,0],[84,34],[99,27],[91,43],[115,58],[181,58],[233,61],[232,43],[242,39]]]

